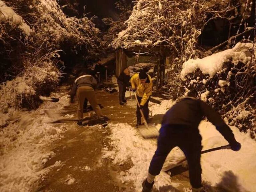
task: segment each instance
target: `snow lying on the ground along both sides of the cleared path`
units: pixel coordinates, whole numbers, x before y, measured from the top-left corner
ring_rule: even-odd
[[[53,95],[56,97],[56,95]],[[129,102],[130,107],[136,107],[135,102]],[[152,115],[164,114],[172,105],[173,101],[164,100],[160,105],[149,103]],[[44,115],[45,108],[61,109],[67,106],[68,99],[64,97],[58,103],[47,102],[46,105],[35,111],[17,111],[0,133],[0,191],[30,191],[37,181],[44,179],[44,174],[49,168],[44,168],[45,163],[55,154],[48,146],[51,142],[61,139],[63,133],[69,129],[65,124],[61,126],[48,124],[49,120]],[[8,115],[8,114],[7,114]],[[6,116],[1,116],[5,121]],[[134,127],[119,123],[108,125],[112,134],[112,148],[105,147],[102,151],[103,159],[112,159],[113,164],[123,165],[131,161],[133,166],[126,172],[120,172],[122,183],[134,183],[135,191],[141,190],[141,183],[146,178],[148,166],[156,150],[156,139],[143,139]],[[160,128],[160,125],[157,126]],[[209,122],[201,122],[200,133],[202,134],[203,150],[226,145],[226,140],[220,135],[215,127]],[[256,142],[249,134],[240,133],[236,127],[231,127],[236,139],[242,144],[239,152],[232,150],[219,150],[202,155],[202,178],[204,182],[228,188],[229,191],[253,192],[255,191],[256,175]],[[179,148],[174,148],[167,157],[166,164],[176,163],[183,159],[184,155]],[[53,166],[58,166],[56,162]],[[166,165],[165,164],[165,165]],[[164,166],[165,166],[164,165]],[[71,179],[72,180],[72,179]],[[171,185],[174,188],[180,186],[176,180],[171,180],[165,172],[156,177],[155,187]],[[234,190],[232,190],[234,189]],[[189,192],[189,188],[183,191]]]

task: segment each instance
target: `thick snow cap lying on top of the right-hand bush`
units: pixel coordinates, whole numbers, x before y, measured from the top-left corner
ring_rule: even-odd
[[[233,62],[242,61],[245,63],[249,61],[251,57],[247,56],[247,52],[252,48],[252,43],[237,43],[232,49],[214,53],[203,59],[189,59],[183,63],[183,69],[180,74],[181,79],[185,80],[187,74],[193,73],[198,68],[203,74],[209,74],[210,77],[213,77],[218,71],[222,70],[223,63],[225,62],[232,60]]]

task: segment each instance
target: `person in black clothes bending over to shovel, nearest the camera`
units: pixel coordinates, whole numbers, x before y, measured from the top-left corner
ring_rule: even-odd
[[[238,151],[238,143],[229,126],[221,116],[205,102],[196,99],[197,93],[191,91],[189,96],[183,97],[173,105],[164,115],[160,129],[157,150],[150,162],[148,177],[143,182],[142,192],[150,192],[154,178],[162,169],[169,152],[178,146],[185,154],[189,166],[189,179],[192,192],[203,192],[201,184],[201,140],[198,125],[203,116],[216,126],[216,129],[231,145],[231,149]]]

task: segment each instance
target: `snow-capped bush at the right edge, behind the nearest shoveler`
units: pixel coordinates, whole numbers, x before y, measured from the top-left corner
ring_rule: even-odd
[[[181,79],[188,90],[220,111],[229,125],[256,138],[256,44],[237,43],[232,49],[183,64]],[[186,90],[188,92],[188,90]]]

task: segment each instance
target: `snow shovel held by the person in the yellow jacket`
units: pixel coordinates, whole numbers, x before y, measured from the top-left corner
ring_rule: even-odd
[[[139,103],[139,101],[138,101],[136,92],[133,92],[133,94],[134,94],[134,96],[135,96],[137,105],[138,105],[139,108],[140,108],[140,103]],[[145,127],[146,127],[146,128],[139,128],[139,133],[141,134],[141,136],[142,136],[143,138],[145,138],[145,139],[147,139],[147,138],[152,138],[152,137],[157,137],[157,136],[159,135],[158,130],[156,129],[156,127],[151,127],[151,128],[149,128],[148,123],[147,123],[147,121],[146,121],[146,119],[145,119],[145,117],[144,117],[144,114],[143,114],[141,108],[140,108],[140,114],[141,114],[141,116],[142,116],[142,118],[143,118],[144,125],[145,125]]]

